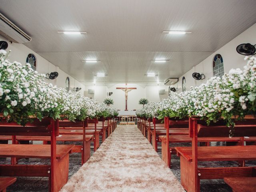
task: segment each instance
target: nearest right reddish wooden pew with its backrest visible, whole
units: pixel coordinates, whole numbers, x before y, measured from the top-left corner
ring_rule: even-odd
[[[246,118],[236,121],[234,136],[240,137],[240,146],[206,146],[198,147],[198,138],[227,137],[230,128],[219,120],[207,126],[199,118],[190,118],[189,136],[192,147],[176,147],[180,156],[181,184],[187,192],[199,192],[200,180],[223,179],[225,177],[251,177],[254,168],[245,167],[245,160],[256,160],[256,146],[244,146],[244,136],[256,136],[256,119]],[[200,161],[239,161],[238,167],[204,167],[198,168]]]

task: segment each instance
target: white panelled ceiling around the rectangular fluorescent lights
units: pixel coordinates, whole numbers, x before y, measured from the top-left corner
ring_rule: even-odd
[[[0,0],[0,12],[32,37],[26,46],[84,84],[97,73],[108,74],[96,79],[105,83],[179,77],[252,26],[255,10],[255,0]]]

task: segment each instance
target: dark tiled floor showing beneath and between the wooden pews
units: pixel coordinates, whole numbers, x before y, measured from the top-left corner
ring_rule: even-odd
[[[69,144],[67,142],[67,144]],[[214,142],[214,146],[222,146],[223,142]],[[177,145],[175,145],[177,146]],[[181,143],[179,146],[190,146],[190,144]],[[91,155],[93,151],[93,143],[91,143]],[[161,143],[158,143],[158,154],[161,156]],[[19,164],[46,164],[47,160],[40,159],[21,159]],[[69,163],[69,178],[72,176],[81,166],[81,154],[70,154]],[[10,164],[10,158],[0,158],[0,164]],[[247,166],[256,166],[256,161],[246,162]],[[236,162],[203,162],[200,166],[237,166]],[[176,178],[180,180],[180,158],[176,155],[172,155],[172,172]],[[231,188],[225,184],[223,180],[201,180],[200,182],[201,192],[232,192]],[[47,192],[48,191],[48,178],[28,178],[18,177],[15,184],[7,188],[7,192]]]

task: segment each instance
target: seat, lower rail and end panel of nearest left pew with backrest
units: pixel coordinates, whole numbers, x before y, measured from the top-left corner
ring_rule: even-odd
[[[54,188],[50,191],[57,192],[68,181],[69,153],[74,145],[57,145],[54,168]],[[10,158],[42,158],[51,159],[50,145],[30,144],[1,144],[0,157]],[[0,176],[22,176],[22,177],[49,177],[51,186],[51,165],[0,165]]]

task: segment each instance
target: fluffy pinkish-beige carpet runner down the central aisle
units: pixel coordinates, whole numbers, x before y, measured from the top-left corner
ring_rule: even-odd
[[[150,143],[132,125],[118,128],[61,192],[184,191]]]

